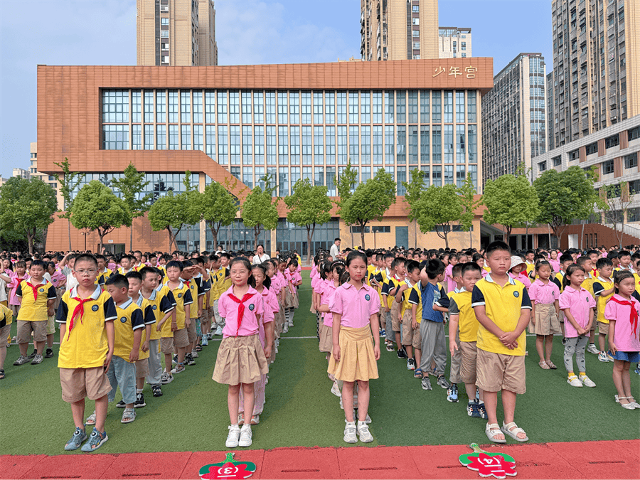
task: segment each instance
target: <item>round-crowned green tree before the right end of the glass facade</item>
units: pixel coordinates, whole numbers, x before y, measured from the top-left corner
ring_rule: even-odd
[[[422,233],[435,230],[444,245],[449,247],[452,225],[462,218],[464,208],[455,185],[432,185],[415,202],[414,215]]]

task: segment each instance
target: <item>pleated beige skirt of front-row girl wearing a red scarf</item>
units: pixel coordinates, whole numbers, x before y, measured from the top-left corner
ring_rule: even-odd
[[[267,358],[257,334],[223,338],[215,359],[213,380],[225,385],[255,383],[260,375],[267,373]]]

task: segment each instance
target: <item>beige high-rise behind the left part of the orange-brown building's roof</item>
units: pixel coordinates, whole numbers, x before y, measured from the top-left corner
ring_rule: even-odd
[[[138,65],[218,65],[213,0],[137,0]]]

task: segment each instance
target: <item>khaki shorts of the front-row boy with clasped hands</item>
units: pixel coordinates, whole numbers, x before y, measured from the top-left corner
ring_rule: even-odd
[[[527,391],[524,356],[505,355],[478,348],[476,385],[486,392]]]

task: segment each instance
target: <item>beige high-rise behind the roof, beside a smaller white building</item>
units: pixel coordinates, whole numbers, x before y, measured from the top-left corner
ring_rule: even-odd
[[[437,0],[361,0],[363,60],[438,58]]]

